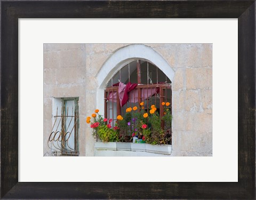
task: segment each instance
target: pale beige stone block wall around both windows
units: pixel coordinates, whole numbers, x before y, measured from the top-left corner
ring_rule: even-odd
[[[51,155],[47,138],[52,127],[52,97],[79,97],[80,155],[94,155],[94,141],[86,116],[97,108],[96,77],[106,60],[127,45],[44,44],[46,156]],[[211,156],[212,44],[145,45],[160,54],[175,71],[172,82],[172,156]]]

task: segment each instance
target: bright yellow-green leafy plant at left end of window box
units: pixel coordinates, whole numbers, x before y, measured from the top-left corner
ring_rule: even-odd
[[[118,133],[113,129],[109,129],[107,125],[101,125],[98,127],[98,135],[102,142],[118,141]]]

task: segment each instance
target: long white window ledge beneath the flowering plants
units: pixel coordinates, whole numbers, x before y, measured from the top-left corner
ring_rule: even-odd
[[[146,153],[171,155],[171,145],[150,145],[147,143],[131,143],[131,142],[95,142],[95,149],[112,150],[112,151],[141,151]],[[127,153],[126,153],[127,154]]]

